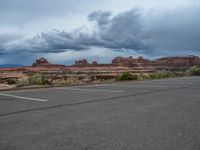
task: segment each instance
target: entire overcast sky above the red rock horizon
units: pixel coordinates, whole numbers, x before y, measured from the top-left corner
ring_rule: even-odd
[[[0,0],[0,64],[200,55],[200,0]]]

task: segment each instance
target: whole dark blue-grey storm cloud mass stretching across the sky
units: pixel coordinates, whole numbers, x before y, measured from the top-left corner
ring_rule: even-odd
[[[33,38],[1,46],[6,52],[63,52],[103,47],[144,53],[200,50],[200,5],[144,14],[138,9],[118,15],[95,11],[89,21],[96,22],[91,32],[52,30]],[[187,9],[186,9],[187,8]]]

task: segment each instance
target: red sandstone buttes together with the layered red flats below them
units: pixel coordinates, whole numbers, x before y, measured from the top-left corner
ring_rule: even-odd
[[[86,59],[77,60],[71,66],[60,64],[51,64],[45,58],[37,59],[32,66],[16,67],[16,68],[0,68],[0,78],[2,77],[21,77],[23,74],[29,75],[32,73],[55,73],[63,71],[76,72],[108,72],[117,74],[126,70],[133,72],[151,72],[161,69],[180,69],[189,68],[192,66],[200,66],[200,58],[198,56],[174,56],[163,57],[157,60],[148,60],[143,57],[116,57],[111,64],[98,64],[96,61],[89,63]]]

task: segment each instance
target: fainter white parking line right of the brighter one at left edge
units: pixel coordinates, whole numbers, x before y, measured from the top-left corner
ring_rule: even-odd
[[[101,90],[101,89],[81,89],[81,88],[56,88],[61,90],[71,90],[71,91],[86,91],[86,92],[112,92],[112,93],[123,93],[124,91],[117,90]]]

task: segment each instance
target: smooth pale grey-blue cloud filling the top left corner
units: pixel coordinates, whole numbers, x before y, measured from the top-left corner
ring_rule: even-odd
[[[77,9],[78,0],[0,0],[1,25],[24,25],[47,17],[59,17]],[[80,2],[79,2],[80,3]]]

